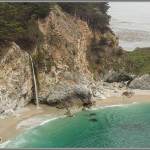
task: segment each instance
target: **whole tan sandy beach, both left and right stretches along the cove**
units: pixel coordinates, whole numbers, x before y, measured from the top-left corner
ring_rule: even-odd
[[[124,99],[122,98],[122,92],[125,90],[119,90],[117,93],[114,90],[107,89],[109,97],[103,100],[96,100],[96,105],[93,108],[122,105],[132,103],[149,103],[150,91],[149,90],[133,90],[135,93],[132,97]],[[82,108],[72,109],[72,113],[81,111]],[[65,109],[57,109],[48,105],[41,104],[40,109],[37,109],[35,105],[29,104],[21,111],[15,112],[13,116],[9,116],[4,119],[0,119],[0,137],[1,143],[4,143],[11,138],[16,137],[19,133],[40,125],[44,121],[57,118],[64,115]],[[0,143],[0,144],[1,144]]]

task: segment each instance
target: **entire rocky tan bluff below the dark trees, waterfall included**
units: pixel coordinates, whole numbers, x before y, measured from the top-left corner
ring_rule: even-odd
[[[92,17],[97,16],[94,8],[93,12]],[[130,88],[141,87],[125,71],[131,63],[125,61],[124,67],[122,60],[127,54],[107,23],[102,28],[102,22],[97,22],[99,28],[95,29],[84,15],[71,15],[56,4],[45,18],[32,20],[30,36],[38,35],[37,43],[0,45],[0,118],[29,103],[67,110],[72,106],[90,108],[109,95],[106,89],[111,83],[119,89],[133,80]]]

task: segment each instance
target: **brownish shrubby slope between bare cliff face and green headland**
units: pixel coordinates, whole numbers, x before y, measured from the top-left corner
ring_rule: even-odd
[[[99,75],[104,75],[112,66],[115,68],[123,55],[124,51],[119,47],[118,39],[109,32],[100,34],[97,38],[94,36],[87,51],[89,70],[99,78]]]

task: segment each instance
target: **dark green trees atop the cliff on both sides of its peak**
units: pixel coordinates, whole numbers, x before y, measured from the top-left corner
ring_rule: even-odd
[[[109,5],[101,3],[57,3],[64,11],[87,21],[92,29],[110,30]],[[53,3],[0,3],[0,43],[14,41],[25,49],[42,40],[38,18],[44,18]]]

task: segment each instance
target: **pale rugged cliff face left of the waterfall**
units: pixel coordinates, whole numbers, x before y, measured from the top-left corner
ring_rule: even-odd
[[[32,98],[29,56],[11,43],[0,62],[0,113],[9,115],[24,107]]]

